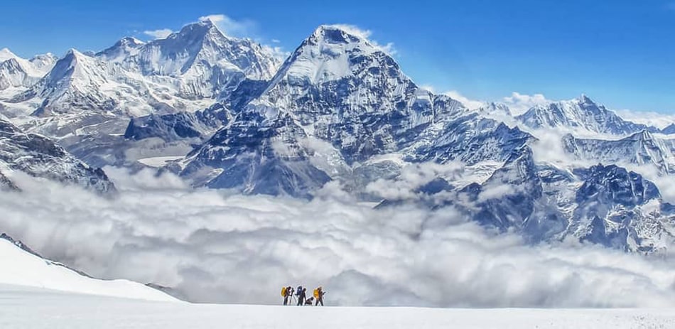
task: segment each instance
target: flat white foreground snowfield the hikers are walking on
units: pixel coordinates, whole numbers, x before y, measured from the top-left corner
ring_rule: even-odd
[[[649,309],[442,309],[163,303],[0,285],[0,328],[675,328]]]

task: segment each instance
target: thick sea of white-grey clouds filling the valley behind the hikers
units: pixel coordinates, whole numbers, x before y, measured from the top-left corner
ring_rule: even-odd
[[[279,303],[281,286],[302,284],[348,306],[675,306],[675,264],[526,246],[452,208],[373,210],[333,184],[301,201],[109,172],[114,200],[20,178],[23,194],[0,194],[0,230],[94,276],[172,286],[191,301]]]

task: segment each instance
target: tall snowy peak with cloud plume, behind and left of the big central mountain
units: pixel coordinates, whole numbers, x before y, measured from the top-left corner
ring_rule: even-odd
[[[211,97],[212,90],[232,79],[232,71],[252,80],[269,80],[279,60],[262,45],[249,39],[225,36],[212,21],[190,23],[163,39],[139,43],[124,38],[97,54],[97,58],[121,63],[131,72],[146,76],[184,77],[188,98]],[[193,84],[197,84],[194,86]],[[210,90],[205,90],[210,89]]]

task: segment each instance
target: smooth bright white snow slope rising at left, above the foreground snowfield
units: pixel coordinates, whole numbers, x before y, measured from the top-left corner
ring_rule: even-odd
[[[85,276],[63,264],[31,254],[22,249],[22,245],[21,242],[12,243],[7,238],[0,239],[0,260],[2,261],[0,284],[148,301],[178,301],[166,293],[137,282],[101,280]],[[0,315],[0,318],[4,316]],[[0,325],[0,327],[7,328],[6,325]]]

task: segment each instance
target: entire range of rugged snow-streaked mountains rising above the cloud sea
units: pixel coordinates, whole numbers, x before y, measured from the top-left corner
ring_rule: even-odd
[[[469,109],[419,87],[387,50],[342,26],[318,27],[286,60],[274,54],[210,21],[58,59],[2,50],[0,185],[21,189],[11,172],[23,171],[114,190],[93,169],[102,166],[296,198],[338,181],[379,207],[455,207],[533,243],[657,252],[674,240],[675,208],[640,173],[675,173],[675,123],[636,124],[585,95],[520,115],[496,103]],[[563,163],[537,147],[551,136]],[[424,163],[461,170],[425,176],[414,197],[376,188]]]

